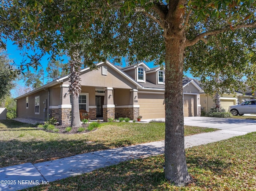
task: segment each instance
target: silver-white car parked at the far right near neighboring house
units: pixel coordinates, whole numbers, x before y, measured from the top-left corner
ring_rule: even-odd
[[[228,111],[232,115],[256,113],[256,99],[247,100],[238,105],[229,106]]]

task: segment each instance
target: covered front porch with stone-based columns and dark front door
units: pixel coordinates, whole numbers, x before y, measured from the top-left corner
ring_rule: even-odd
[[[50,118],[56,118],[60,124],[71,122],[71,100],[66,94],[68,94],[68,85],[61,85],[60,104],[50,106]],[[138,90],[82,86],[79,109],[89,112],[91,120],[102,118],[107,121],[109,118],[119,117],[133,120],[139,115]]]

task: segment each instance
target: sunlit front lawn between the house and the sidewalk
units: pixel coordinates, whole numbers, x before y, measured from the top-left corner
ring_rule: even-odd
[[[0,120],[0,167],[164,140],[164,126],[164,123],[106,122],[86,134],[59,134],[14,120]],[[185,135],[214,130],[186,126]]]

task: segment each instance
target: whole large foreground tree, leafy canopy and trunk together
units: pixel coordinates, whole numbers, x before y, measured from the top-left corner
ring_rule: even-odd
[[[211,42],[226,33],[229,46],[235,36],[227,32],[255,28],[255,5],[253,0],[6,0],[0,4],[1,37],[20,46],[35,45],[42,53],[56,55],[64,50],[73,61],[79,55],[88,66],[109,57],[120,61],[124,55],[130,63],[164,63],[165,177],[184,185],[191,180],[184,150],[185,49],[189,52],[188,47],[200,43],[202,49],[221,58],[216,69],[226,66],[225,47],[216,43],[222,49],[221,57]],[[4,41],[0,43],[4,46]],[[215,67],[208,61],[202,59],[203,69]],[[191,64],[191,69],[198,64]]]

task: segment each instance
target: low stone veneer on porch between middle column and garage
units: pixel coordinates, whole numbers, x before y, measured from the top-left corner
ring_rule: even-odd
[[[115,109],[115,118],[128,117],[131,120],[136,119],[140,114],[139,107],[123,107]]]

